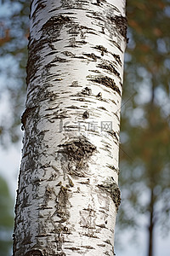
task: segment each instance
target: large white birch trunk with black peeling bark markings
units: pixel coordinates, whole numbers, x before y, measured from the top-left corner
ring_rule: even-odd
[[[14,256],[114,255],[124,0],[34,0]]]

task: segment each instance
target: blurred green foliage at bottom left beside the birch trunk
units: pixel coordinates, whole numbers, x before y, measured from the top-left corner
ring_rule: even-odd
[[[12,230],[14,225],[14,202],[8,191],[8,185],[0,177],[0,255],[11,255]]]

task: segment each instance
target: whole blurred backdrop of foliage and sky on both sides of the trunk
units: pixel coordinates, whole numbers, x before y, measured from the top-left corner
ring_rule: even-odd
[[[0,255],[11,255],[28,0],[0,0]],[[170,252],[170,1],[127,0],[116,255]],[[152,245],[152,246],[151,246]],[[153,248],[151,253],[150,248]]]

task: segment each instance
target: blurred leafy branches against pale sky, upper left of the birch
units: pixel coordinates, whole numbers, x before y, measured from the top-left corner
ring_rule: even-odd
[[[30,1],[0,0],[0,5],[0,104],[8,101],[8,113],[1,113],[0,142],[5,147],[9,142],[17,143],[21,137]]]

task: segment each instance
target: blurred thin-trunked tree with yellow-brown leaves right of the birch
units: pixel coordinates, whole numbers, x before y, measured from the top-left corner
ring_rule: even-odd
[[[127,0],[127,20],[119,224],[135,230],[144,215],[153,256],[155,228],[167,234],[170,220],[170,3]]]

